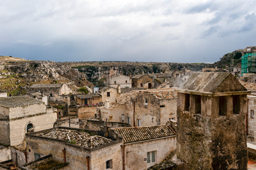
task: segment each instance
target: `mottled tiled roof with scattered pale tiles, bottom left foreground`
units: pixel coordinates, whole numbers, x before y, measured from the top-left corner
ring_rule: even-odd
[[[82,132],[79,130],[67,130],[67,129],[51,129],[36,135],[41,137],[50,137],[57,140],[65,140],[67,142],[86,148],[99,147],[100,145],[112,142],[112,140],[106,137],[101,137],[98,135],[91,136],[87,132]]]

